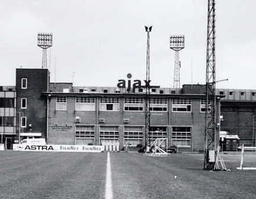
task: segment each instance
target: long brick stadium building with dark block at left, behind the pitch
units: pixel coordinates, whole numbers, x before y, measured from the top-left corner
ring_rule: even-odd
[[[16,69],[13,90],[0,92],[1,100],[13,93],[9,96],[13,104],[0,103],[1,117],[14,118],[13,131],[2,122],[1,134],[11,138],[10,144],[24,138],[46,138],[48,144],[118,141],[120,148],[143,145],[145,90],[130,89],[126,81],[127,88],[73,86],[49,83],[48,69]],[[241,143],[255,144],[255,92],[217,90],[217,132],[228,131],[237,134]],[[150,142],[168,138],[179,150],[204,150],[204,85],[183,85],[181,89],[151,86],[150,98]],[[13,114],[6,115],[3,110],[7,109]]]

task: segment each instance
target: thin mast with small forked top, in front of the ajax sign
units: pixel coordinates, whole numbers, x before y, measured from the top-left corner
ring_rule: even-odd
[[[146,69],[146,81],[150,82],[150,32],[152,30],[152,26],[145,26],[145,30],[147,32],[147,69]],[[150,145],[150,86],[145,86],[146,89],[146,107],[145,107],[145,146]]]

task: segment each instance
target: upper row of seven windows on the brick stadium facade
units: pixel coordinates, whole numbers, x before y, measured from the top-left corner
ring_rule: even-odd
[[[76,97],[76,110],[95,110],[95,101],[93,97]],[[167,111],[167,98],[151,98],[151,111]],[[191,112],[191,99],[172,99],[172,111]],[[206,100],[201,99],[200,111],[205,112]],[[67,110],[67,97],[57,97],[56,110]],[[119,98],[109,97],[100,99],[101,111],[119,111]],[[143,111],[143,98],[125,98],[125,111]]]

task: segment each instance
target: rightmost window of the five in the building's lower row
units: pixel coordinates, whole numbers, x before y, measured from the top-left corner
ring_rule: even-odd
[[[191,147],[191,127],[173,126],[172,145],[177,147]]]

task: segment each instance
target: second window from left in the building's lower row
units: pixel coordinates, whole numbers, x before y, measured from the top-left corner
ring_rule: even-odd
[[[118,141],[118,126],[100,126],[100,143]]]

